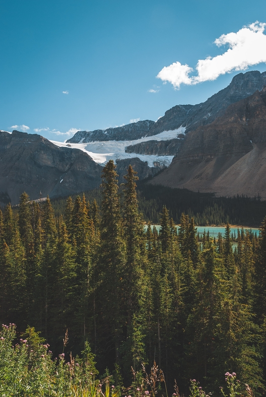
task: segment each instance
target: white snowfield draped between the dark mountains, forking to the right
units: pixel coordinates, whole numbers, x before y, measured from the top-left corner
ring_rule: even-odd
[[[125,148],[130,145],[135,145],[140,142],[147,142],[148,140],[169,140],[177,138],[177,135],[180,133],[184,133],[186,130],[185,127],[180,127],[177,130],[173,131],[164,131],[158,133],[157,135],[152,136],[144,136],[140,139],[134,140],[108,140],[108,141],[97,141],[97,142],[89,142],[89,143],[66,143],[66,142],[58,142],[55,140],[51,140],[52,143],[59,147],[69,147],[70,149],[80,149],[84,152],[88,153],[88,155],[98,164],[105,165],[107,161],[117,159],[125,159],[125,158],[133,158],[138,157],[142,161],[147,161],[149,167],[154,167],[154,163],[156,166],[165,166],[169,167],[174,156],[155,156],[155,155],[143,155],[136,153],[126,153]],[[178,138],[179,139],[179,138]],[[83,139],[82,139],[83,140]]]

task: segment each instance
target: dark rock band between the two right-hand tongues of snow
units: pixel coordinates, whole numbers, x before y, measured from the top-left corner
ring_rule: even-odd
[[[181,146],[181,139],[148,140],[127,146],[126,153],[136,153],[155,156],[175,156]]]

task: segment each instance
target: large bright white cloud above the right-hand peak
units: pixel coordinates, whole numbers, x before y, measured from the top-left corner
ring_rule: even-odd
[[[164,66],[157,74],[164,82],[169,81],[175,88],[183,84],[198,84],[203,81],[215,80],[221,74],[236,70],[246,70],[249,66],[266,63],[266,23],[256,21],[249,26],[244,26],[238,32],[221,35],[214,43],[221,47],[229,48],[222,55],[207,57],[199,60],[196,66],[198,75],[190,76],[194,70],[188,65],[175,62]]]

